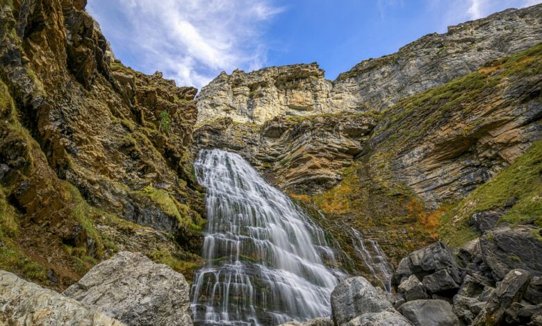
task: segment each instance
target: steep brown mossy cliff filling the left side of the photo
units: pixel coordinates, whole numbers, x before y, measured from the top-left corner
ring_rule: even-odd
[[[190,274],[197,91],[115,61],[85,3],[0,1],[0,267],[62,289],[124,249]]]

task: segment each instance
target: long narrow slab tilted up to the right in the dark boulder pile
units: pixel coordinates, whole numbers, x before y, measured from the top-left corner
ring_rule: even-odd
[[[527,271],[514,269],[510,271],[497,286],[493,294],[482,309],[482,312],[476,317],[473,325],[499,325],[504,317],[504,312],[522,297],[531,275]]]

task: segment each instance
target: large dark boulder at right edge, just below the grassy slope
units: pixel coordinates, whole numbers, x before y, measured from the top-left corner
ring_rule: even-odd
[[[491,268],[495,280],[520,268],[542,276],[542,241],[534,234],[538,228],[518,226],[497,228],[480,237],[482,259]]]

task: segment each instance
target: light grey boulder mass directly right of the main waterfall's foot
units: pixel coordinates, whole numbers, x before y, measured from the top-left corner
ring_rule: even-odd
[[[349,278],[331,293],[335,325],[411,325],[364,277]]]

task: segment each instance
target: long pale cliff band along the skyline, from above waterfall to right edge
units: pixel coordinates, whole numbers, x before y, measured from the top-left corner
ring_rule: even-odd
[[[380,112],[541,42],[541,6],[505,10],[426,35],[397,53],[363,61],[333,83],[318,65],[220,74],[198,95],[199,123],[217,117],[264,123],[279,115]],[[430,76],[430,78],[427,78]]]

